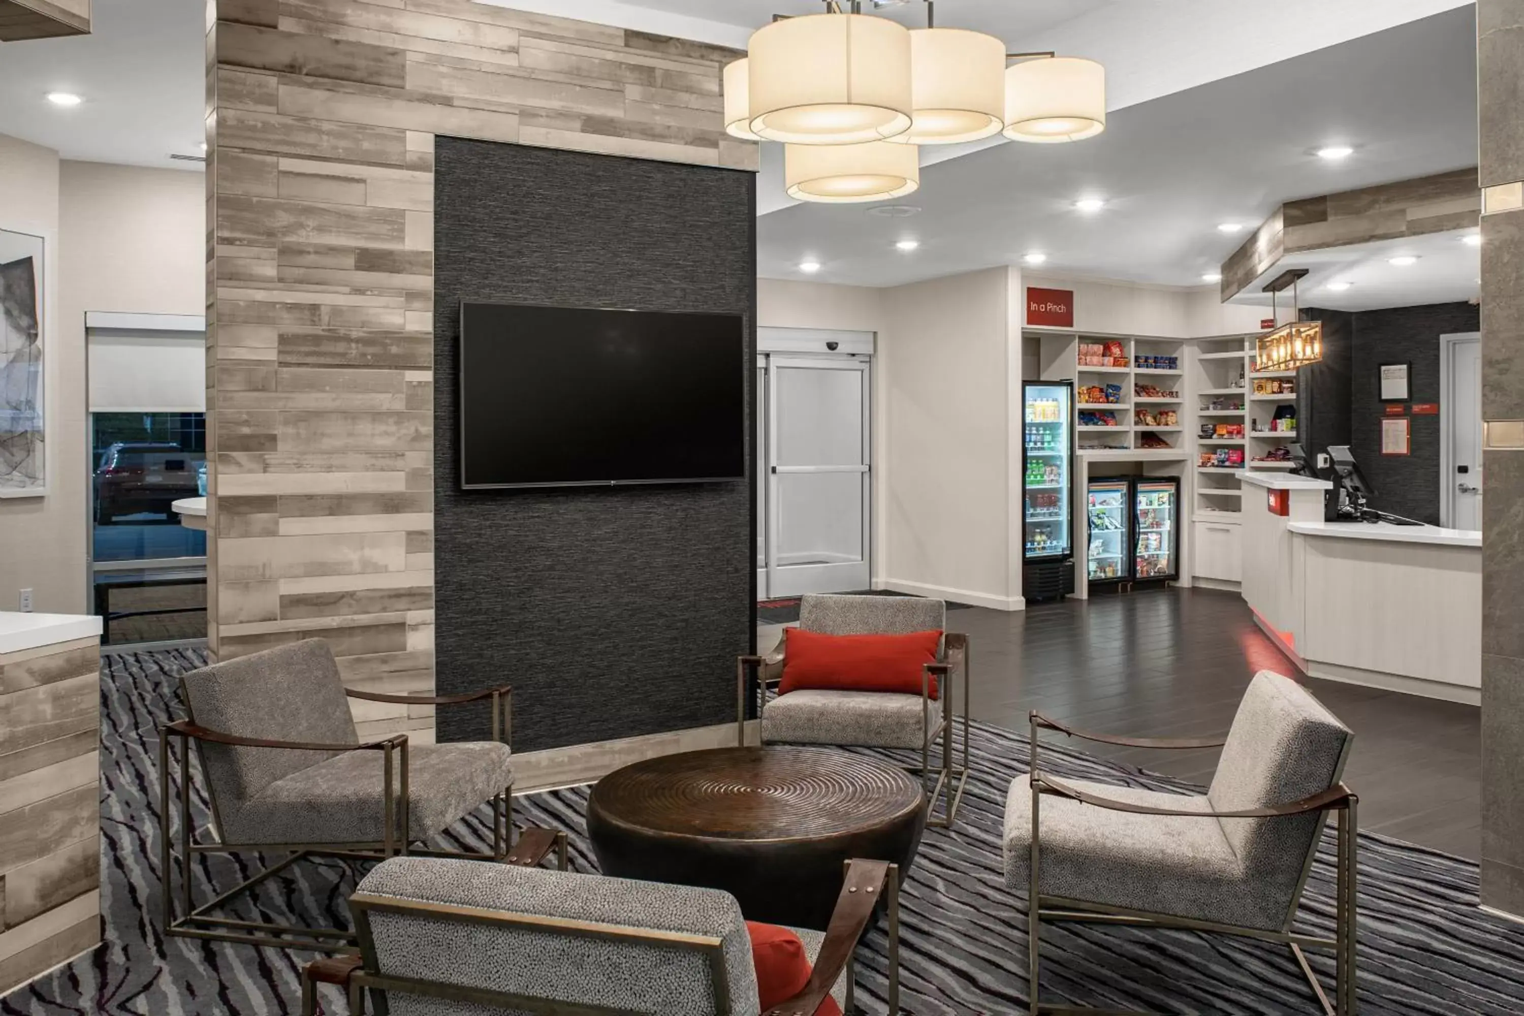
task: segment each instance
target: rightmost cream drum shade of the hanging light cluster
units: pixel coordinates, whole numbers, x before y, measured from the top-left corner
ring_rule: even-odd
[[[1006,70],[1006,137],[1061,143],[1106,129],[1106,69],[1077,56],[1024,59]]]

